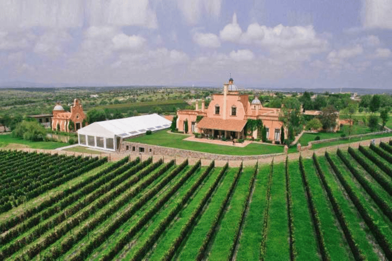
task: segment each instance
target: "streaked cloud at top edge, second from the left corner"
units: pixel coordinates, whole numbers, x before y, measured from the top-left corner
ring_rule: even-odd
[[[148,0],[86,0],[90,25],[139,25],[157,28],[157,16]]]

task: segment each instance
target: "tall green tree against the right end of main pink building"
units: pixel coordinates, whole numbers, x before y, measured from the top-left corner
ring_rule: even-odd
[[[283,99],[283,107],[279,113],[279,120],[283,122],[283,127],[289,130],[287,135],[287,142],[289,144],[294,138],[293,135],[302,129],[301,104],[297,98],[286,97]],[[292,129],[292,133],[290,129]]]

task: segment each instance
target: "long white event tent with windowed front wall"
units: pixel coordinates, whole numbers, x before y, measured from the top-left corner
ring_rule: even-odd
[[[116,151],[122,139],[170,127],[171,121],[158,114],[91,123],[78,130],[80,146]]]

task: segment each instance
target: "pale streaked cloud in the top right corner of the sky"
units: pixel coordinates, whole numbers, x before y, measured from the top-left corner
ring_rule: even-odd
[[[392,1],[362,0],[362,25],[364,28],[392,29]]]

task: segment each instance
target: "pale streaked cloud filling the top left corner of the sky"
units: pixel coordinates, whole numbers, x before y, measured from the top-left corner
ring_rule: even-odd
[[[83,1],[28,0],[0,1],[0,27],[81,27]]]

